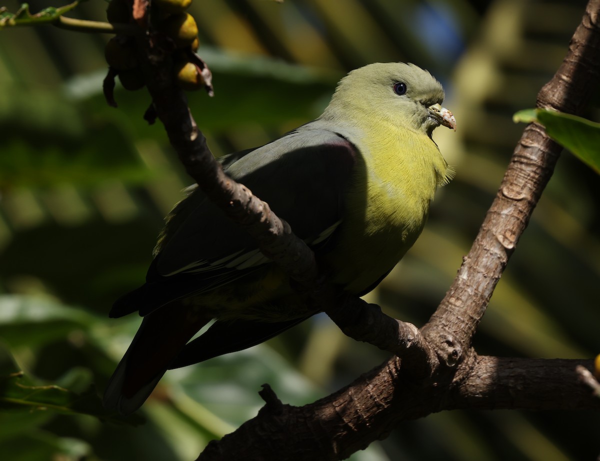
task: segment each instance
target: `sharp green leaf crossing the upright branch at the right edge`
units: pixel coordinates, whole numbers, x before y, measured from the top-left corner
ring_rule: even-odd
[[[600,174],[600,124],[568,113],[526,109],[515,113],[515,122],[538,122],[548,136]]]

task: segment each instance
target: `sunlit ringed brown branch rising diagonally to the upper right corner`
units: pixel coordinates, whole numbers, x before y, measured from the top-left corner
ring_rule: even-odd
[[[538,95],[538,107],[578,113],[600,80],[600,0],[591,0],[553,79]],[[491,294],[529,223],[562,148],[530,124],[515,148],[496,199],[457,277],[423,332],[440,348],[470,346]]]

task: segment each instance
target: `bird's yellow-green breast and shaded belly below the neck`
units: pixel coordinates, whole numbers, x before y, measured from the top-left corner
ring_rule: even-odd
[[[446,168],[425,135],[403,133],[377,151],[381,145],[363,152],[346,192],[339,240],[326,256],[334,282],[355,293],[373,286],[415,243]]]

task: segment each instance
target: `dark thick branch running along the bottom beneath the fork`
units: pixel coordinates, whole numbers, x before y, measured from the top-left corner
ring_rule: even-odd
[[[197,461],[345,459],[385,438],[398,422],[444,409],[600,410],[600,399],[577,379],[578,364],[592,366],[590,360],[475,357],[462,382],[416,384],[391,361],[310,405],[265,406],[236,432],[211,442]]]

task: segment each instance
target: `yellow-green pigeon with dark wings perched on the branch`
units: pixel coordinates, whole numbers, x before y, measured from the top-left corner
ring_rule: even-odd
[[[365,65],[340,80],[318,118],[221,165],[290,224],[327,283],[361,296],[415,243],[437,187],[454,175],[432,139],[440,125],[456,130],[444,97],[415,64]],[[146,282],[109,313],[143,318],[104,393],[104,406],[123,415],[167,370],[259,344],[318,312],[199,187],[187,192],[166,218]]]

